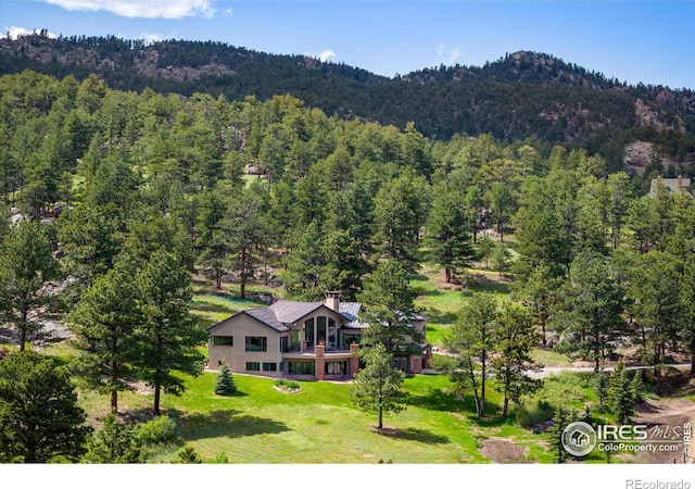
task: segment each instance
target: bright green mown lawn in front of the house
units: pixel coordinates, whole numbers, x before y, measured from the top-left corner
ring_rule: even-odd
[[[271,379],[235,375],[237,394],[214,394],[215,375],[187,379],[180,397],[164,396],[163,410],[176,419],[182,441],[203,461],[225,453],[230,463],[489,463],[479,452],[489,437],[503,437],[528,447],[529,460],[551,462],[542,436],[494,414],[481,422],[471,415],[470,401],[446,392],[448,379],[421,375],[405,380],[406,409],[384,415],[384,431],[376,429],[377,415],[357,411],[346,384],[302,381],[301,392],[277,391]],[[491,413],[498,409],[491,393]],[[148,419],[152,396],[119,396],[119,411]],[[106,414],[109,396],[80,393],[90,423]],[[150,462],[176,460],[180,444],[154,455]]]

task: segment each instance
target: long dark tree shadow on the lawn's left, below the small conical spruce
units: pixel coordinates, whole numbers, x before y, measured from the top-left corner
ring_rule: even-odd
[[[204,438],[240,438],[289,431],[285,423],[251,416],[237,410],[218,410],[180,416],[181,436],[187,440]]]

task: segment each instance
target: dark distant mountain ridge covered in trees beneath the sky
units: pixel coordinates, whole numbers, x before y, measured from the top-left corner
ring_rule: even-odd
[[[687,166],[695,152],[695,93],[628,86],[548,54],[517,52],[484,66],[424,68],[387,78],[303,55],[271,55],[219,42],[42,36],[0,40],[0,74],[34,70],[83,80],[96,73],[115,89],[260,101],[290,93],[343,118],[364,118],[427,137],[456,134],[511,142],[538,138],[598,152],[622,170],[624,145],[656,143]]]

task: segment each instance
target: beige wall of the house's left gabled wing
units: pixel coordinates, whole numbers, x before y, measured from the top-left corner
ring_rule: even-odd
[[[233,338],[233,344],[214,346],[213,337],[215,336],[230,336]],[[247,314],[235,315],[210,330],[207,367],[216,371],[219,368],[219,362],[224,360],[227,365],[229,365],[229,369],[235,373],[280,377],[282,376],[280,368],[282,354],[280,352],[279,339],[281,336],[289,335],[287,333],[278,333]],[[247,337],[265,337],[266,351],[247,351]],[[247,369],[247,363],[249,362],[258,363],[260,369]],[[264,364],[275,364],[275,371],[264,369]]]

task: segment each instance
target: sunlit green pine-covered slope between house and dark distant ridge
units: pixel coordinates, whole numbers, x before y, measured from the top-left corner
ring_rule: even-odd
[[[484,261],[517,279],[544,337],[597,365],[627,339],[654,365],[695,351],[695,205],[664,186],[648,197],[656,166],[631,177],[547,142],[433,141],[290,96],[229,102],[33,72],[0,78],[0,95],[4,202],[13,223],[43,224],[70,301],[160,252],[213,287],[265,281],[301,299],[354,299],[384,261],[466,286]],[[10,237],[20,255],[39,242]]]

